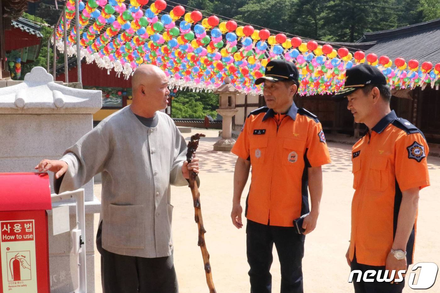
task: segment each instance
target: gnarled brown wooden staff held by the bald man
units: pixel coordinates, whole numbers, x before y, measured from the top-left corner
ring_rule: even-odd
[[[188,164],[191,163],[192,158],[194,157],[195,150],[198,147],[198,141],[201,137],[205,137],[204,134],[196,133],[191,136],[191,141],[188,143],[188,151],[187,151],[187,161]],[[214,288],[213,275],[211,274],[211,265],[209,264],[209,253],[208,249],[206,249],[205,245],[205,233],[206,230],[203,227],[203,218],[202,218],[202,209],[200,208],[200,192],[198,191],[196,176],[197,173],[190,170],[190,185],[191,194],[193,196],[194,202],[194,220],[198,226],[198,243],[202,250],[203,264],[205,264],[205,275],[206,275],[206,283],[209,287],[209,293],[216,293],[216,289]]]

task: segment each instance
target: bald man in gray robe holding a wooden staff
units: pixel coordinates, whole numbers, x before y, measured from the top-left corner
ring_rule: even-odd
[[[55,192],[75,190],[102,173],[101,253],[104,293],[178,292],[171,236],[170,184],[187,185],[186,143],[159,110],[169,95],[165,73],[141,65],[132,77],[133,102],[84,135],[60,161],[42,160],[55,172]]]

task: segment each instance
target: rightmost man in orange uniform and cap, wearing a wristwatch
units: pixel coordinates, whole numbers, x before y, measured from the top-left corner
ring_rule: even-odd
[[[429,186],[423,133],[390,110],[384,75],[361,64],[346,73],[343,90],[357,123],[368,127],[352,148],[352,231],[346,254],[353,270],[407,270],[413,263],[419,190]],[[381,276],[383,277],[383,275]],[[396,273],[397,278],[397,273]],[[394,280],[394,279],[393,279]],[[353,282],[356,293],[400,293],[401,282]]]

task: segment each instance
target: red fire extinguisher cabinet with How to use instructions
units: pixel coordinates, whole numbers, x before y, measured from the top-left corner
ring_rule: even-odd
[[[0,173],[0,293],[49,293],[47,173]]]

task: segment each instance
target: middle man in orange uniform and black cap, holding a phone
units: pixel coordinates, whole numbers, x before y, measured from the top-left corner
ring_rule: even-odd
[[[252,166],[246,198],[246,250],[251,292],[271,292],[272,248],[281,265],[281,292],[303,292],[302,257],[305,234],[316,227],[323,191],[321,165],[330,163],[321,123],[312,113],[297,108],[293,96],[298,70],[277,59],[266,66],[264,99],[267,107],[249,114],[232,152],[238,156],[234,173],[232,223],[242,224],[240,198]],[[293,220],[305,216],[303,233]]]

